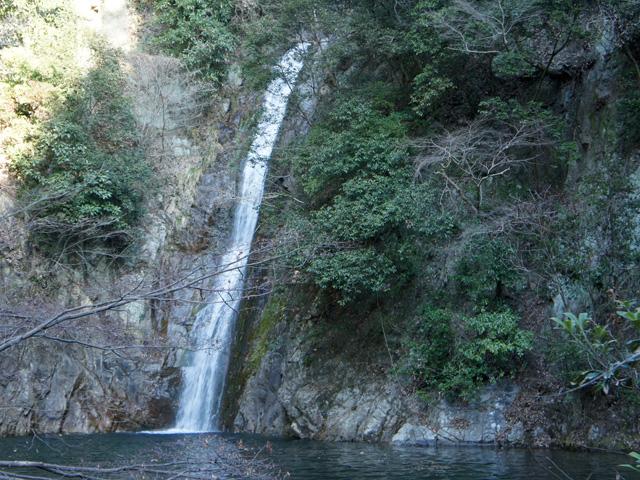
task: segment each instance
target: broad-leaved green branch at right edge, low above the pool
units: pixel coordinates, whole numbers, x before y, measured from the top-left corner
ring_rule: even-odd
[[[579,388],[594,386],[596,391],[609,394],[616,387],[640,392],[640,307],[635,302],[617,301],[617,314],[634,329],[634,335],[623,338],[611,332],[609,325],[600,325],[587,313],[565,313],[564,318],[553,318],[556,328],[576,345],[589,370],[576,379]]]

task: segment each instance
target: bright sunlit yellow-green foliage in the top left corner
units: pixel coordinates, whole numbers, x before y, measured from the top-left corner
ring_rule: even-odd
[[[12,0],[0,7],[11,38],[1,53],[0,151],[9,158],[33,150],[33,137],[84,74],[71,0]]]

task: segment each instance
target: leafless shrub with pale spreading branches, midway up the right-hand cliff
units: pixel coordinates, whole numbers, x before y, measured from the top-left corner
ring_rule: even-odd
[[[564,171],[575,159],[575,143],[561,140],[564,122],[540,104],[492,98],[479,107],[472,122],[425,138],[416,162],[421,176],[441,177],[445,192],[462,199],[474,214],[513,202],[526,191],[527,177],[538,176],[536,164],[549,165],[557,176],[558,167]]]

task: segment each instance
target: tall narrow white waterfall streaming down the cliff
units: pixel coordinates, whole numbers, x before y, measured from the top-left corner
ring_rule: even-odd
[[[228,253],[220,261],[222,273],[215,281],[214,298],[208,299],[209,304],[198,313],[194,322],[192,339],[195,352],[191,365],[183,368],[184,386],[172,432],[205,432],[220,428],[218,410],[247,260],[258,221],[258,207],[264,191],[267,161],[307,47],[308,44],[300,44],[284,55],[278,65],[278,78],[267,89],[264,113],[244,167]]]

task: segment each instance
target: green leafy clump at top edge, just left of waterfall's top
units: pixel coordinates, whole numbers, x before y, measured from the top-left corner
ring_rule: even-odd
[[[159,0],[156,22],[163,29],[155,43],[179,56],[206,80],[219,82],[235,48],[230,0]]]

